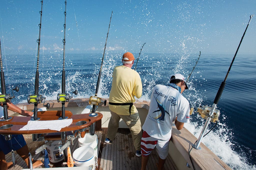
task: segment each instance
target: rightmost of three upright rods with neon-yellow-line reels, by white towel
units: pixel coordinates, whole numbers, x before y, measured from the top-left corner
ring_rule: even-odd
[[[65,0],[65,22],[63,24],[64,27],[64,38],[62,40],[63,42],[63,70],[62,70],[62,81],[61,81],[61,93],[57,94],[57,102],[61,102],[62,107],[61,107],[61,117],[59,117],[59,120],[62,119],[67,119],[68,117],[65,116],[65,102],[69,102],[69,100],[73,97],[70,96],[69,93],[66,93],[66,75],[65,75],[65,44],[66,44],[66,9],[67,9],[67,0]],[[72,93],[74,93],[75,95],[78,94],[78,91],[75,90]],[[65,139],[66,135],[63,134],[63,139]]]

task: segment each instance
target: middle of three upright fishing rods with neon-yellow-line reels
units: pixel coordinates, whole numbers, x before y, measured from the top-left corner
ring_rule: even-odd
[[[39,36],[38,36],[38,40],[37,40],[37,67],[36,67],[36,76],[35,76],[35,93],[32,95],[28,96],[28,103],[34,103],[34,117],[31,118],[31,121],[37,121],[40,120],[40,117],[37,117],[37,106],[38,103],[41,103],[44,100],[44,104],[45,104],[45,97],[42,97],[42,95],[38,94],[38,89],[39,89],[39,50],[40,50],[40,36],[41,36],[41,26],[42,26],[42,9],[43,9],[43,1],[41,1],[41,11],[39,11],[40,13],[40,24],[38,24],[39,26]],[[46,105],[44,105],[47,109],[49,109],[50,104],[47,103]]]

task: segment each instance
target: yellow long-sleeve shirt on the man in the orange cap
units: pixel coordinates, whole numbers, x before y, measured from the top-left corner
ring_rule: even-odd
[[[133,69],[126,66],[116,66],[113,71],[113,81],[109,94],[109,102],[132,103],[142,95],[142,83],[140,75]],[[130,115],[129,106],[109,105],[109,109],[120,115]],[[133,105],[131,114],[137,112]]]

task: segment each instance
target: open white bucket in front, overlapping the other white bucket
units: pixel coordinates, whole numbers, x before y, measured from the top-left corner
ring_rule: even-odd
[[[73,160],[76,166],[89,166],[90,169],[95,169],[94,149],[89,146],[82,146],[73,152]]]

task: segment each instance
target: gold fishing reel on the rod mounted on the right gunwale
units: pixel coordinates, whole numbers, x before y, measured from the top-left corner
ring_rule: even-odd
[[[204,119],[207,119],[208,117],[211,118],[211,122],[216,122],[216,121],[219,121],[219,115],[220,115],[220,110],[218,109],[215,109],[214,110],[214,114],[212,116],[210,116],[210,110],[211,110],[211,107],[209,106],[204,106],[203,108],[202,107],[198,107],[197,108],[197,112],[198,114],[204,118]]]

